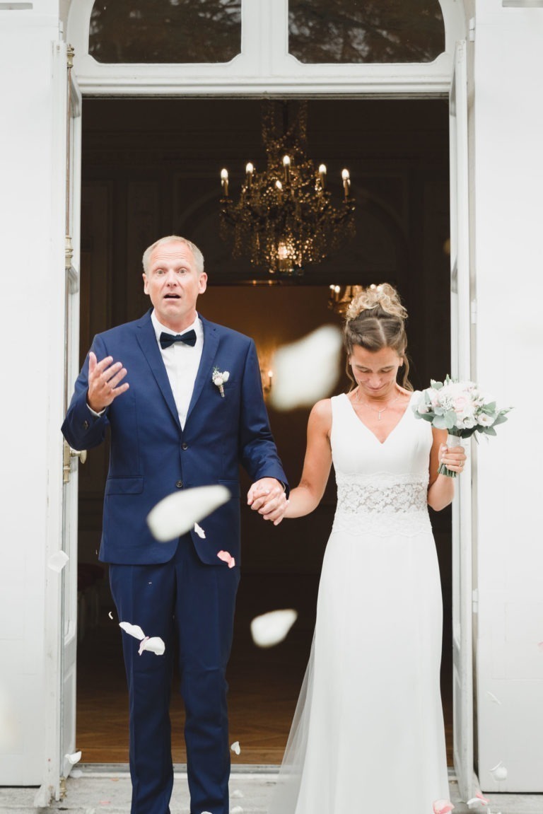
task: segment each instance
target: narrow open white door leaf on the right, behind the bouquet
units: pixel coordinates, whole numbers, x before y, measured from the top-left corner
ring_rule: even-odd
[[[451,375],[471,379],[466,42],[457,43],[449,100],[451,194]],[[473,755],[471,462],[453,501],[454,769],[462,799],[476,783]]]

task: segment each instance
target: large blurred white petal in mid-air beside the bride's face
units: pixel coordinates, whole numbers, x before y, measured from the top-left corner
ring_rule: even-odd
[[[279,348],[274,355],[274,386],[269,396],[276,409],[312,406],[330,395],[339,378],[343,339],[339,328],[325,325]]]

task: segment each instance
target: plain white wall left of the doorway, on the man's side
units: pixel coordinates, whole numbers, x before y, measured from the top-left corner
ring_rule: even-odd
[[[51,81],[57,5],[34,0],[30,11],[0,11],[0,785],[10,786],[42,782],[47,664],[55,658],[45,619],[59,577],[45,562],[59,547],[62,497],[63,191]]]

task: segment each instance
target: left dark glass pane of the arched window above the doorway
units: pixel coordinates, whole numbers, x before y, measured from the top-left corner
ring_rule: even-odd
[[[240,48],[241,0],[97,0],[90,15],[98,62],[229,62]]]

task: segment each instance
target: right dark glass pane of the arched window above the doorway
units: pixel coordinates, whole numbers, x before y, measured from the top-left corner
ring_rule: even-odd
[[[445,47],[438,0],[290,0],[288,18],[304,63],[431,62]]]

